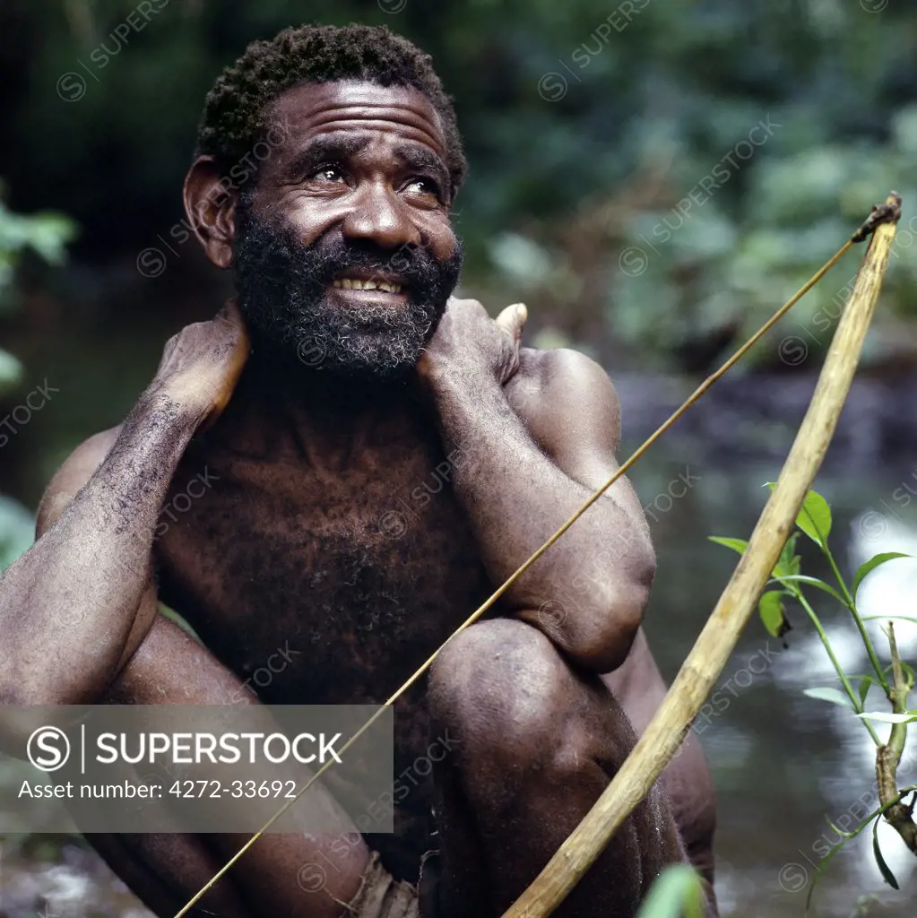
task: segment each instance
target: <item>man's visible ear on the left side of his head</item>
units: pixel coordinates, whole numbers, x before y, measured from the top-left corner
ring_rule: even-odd
[[[212,156],[198,156],[185,175],[185,213],[207,258],[218,268],[232,264],[239,192],[219,174]]]

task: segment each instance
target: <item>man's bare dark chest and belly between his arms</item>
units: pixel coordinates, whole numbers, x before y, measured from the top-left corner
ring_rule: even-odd
[[[271,703],[385,700],[486,596],[433,442],[335,470],[189,456],[157,528],[163,601]]]

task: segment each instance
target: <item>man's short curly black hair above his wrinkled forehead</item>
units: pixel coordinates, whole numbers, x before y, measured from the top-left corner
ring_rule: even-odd
[[[300,26],[271,41],[252,41],[207,93],[196,155],[214,156],[226,174],[263,139],[270,128],[266,109],[277,95],[298,84],[346,79],[411,86],[427,96],[442,121],[454,195],[467,163],[452,100],[431,56],[385,26]]]

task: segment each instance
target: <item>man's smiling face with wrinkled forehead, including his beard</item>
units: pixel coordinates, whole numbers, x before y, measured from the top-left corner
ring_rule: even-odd
[[[416,90],[350,81],[287,90],[269,114],[285,140],[241,196],[234,252],[256,347],[405,373],[462,263],[439,117]]]

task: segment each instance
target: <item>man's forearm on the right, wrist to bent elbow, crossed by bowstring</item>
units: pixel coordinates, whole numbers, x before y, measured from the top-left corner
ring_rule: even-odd
[[[453,474],[488,573],[502,582],[592,493],[532,441],[504,390],[486,374],[431,375]],[[584,666],[606,671],[627,654],[652,579],[653,554],[632,516],[600,498],[505,596]]]

